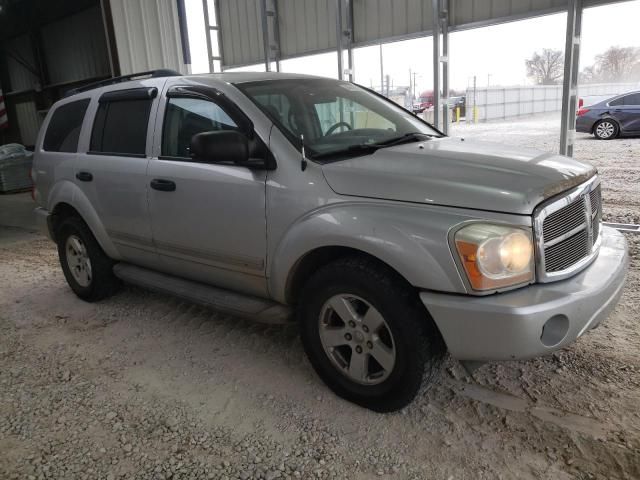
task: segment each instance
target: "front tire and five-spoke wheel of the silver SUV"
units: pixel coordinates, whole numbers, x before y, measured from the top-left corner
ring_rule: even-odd
[[[444,342],[416,292],[367,258],[319,269],[304,287],[298,315],[317,374],[338,396],[363,407],[399,410],[423,378],[440,370]]]

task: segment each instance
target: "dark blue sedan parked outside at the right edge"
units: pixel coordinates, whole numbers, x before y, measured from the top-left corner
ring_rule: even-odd
[[[600,140],[640,135],[640,92],[610,98],[578,110],[576,131]]]

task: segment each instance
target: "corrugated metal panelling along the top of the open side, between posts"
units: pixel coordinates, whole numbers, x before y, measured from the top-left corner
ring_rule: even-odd
[[[112,0],[113,1],[113,0]],[[275,0],[281,58],[336,48],[336,0]],[[585,6],[619,0],[585,0]],[[260,0],[217,0],[225,66],[264,61]],[[432,0],[352,0],[354,45],[426,36]],[[462,30],[564,11],[567,0],[450,0],[450,30]]]

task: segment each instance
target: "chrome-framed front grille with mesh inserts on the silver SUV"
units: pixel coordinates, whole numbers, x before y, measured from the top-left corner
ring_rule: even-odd
[[[595,255],[602,218],[600,195],[595,178],[536,214],[543,281],[565,278],[583,259]]]

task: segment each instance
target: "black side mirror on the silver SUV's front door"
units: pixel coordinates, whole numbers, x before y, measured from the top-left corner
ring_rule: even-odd
[[[191,137],[191,158],[203,163],[249,163],[249,139],[236,130],[202,132]]]

